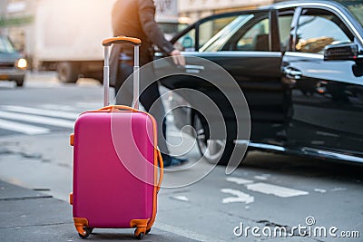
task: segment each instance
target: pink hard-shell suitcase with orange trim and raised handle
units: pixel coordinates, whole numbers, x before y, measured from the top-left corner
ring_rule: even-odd
[[[162,157],[157,149],[156,121],[146,112],[109,102],[109,46],[135,46],[133,104],[139,89],[139,45],[141,41],[119,36],[103,41],[104,107],[86,111],[77,119],[74,145],[74,226],[88,237],[94,227],[136,227],[141,239],[150,232],[156,216],[157,193],[162,182]],[[160,166],[160,168],[159,168]],[[160,171],[160,175],[158,175]]]

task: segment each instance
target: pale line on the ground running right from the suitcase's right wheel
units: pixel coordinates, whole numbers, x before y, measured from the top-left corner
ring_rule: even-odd
[[[199,233],[196,233],[194,231],[191,230],[187,230],[187,229],[183,229],[181,227],[175,227],[172,225],[167,225],[167,224],[163,224],[160,222],[156,222],[153,227],[156,227],[158,229],[161,229],[163,231],[172,233],[174,235],[178,235],[181,237],[187,237],[193,240],[199,240],[199,241],[209,241],[209,242],[224,242],[224,240],[221,240],[217,237],[209,237],[206,235],[202,235]],[[208,231],[208,229],[206,229],[205,231]]]

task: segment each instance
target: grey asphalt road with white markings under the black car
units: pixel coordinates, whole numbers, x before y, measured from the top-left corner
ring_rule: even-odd
[[[24,88],[0,82],[0,179],[66,200],[74,120],[102,103],[92,80],[62,84],[53,73],[33,73]],[[181,141],[172,125],[168,131]],[[158,229],[200,241],[363,241],[362,166],[254,151],[227,176],[203,160],[194,166],[198,151],[183,138],[171,149],[189,146],[191,161],[167,171],[163,184],[185,186],[162,189]]]

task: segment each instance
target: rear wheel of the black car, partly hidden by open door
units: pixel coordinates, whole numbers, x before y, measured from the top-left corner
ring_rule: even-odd
[[[211,164],[227,165],[230,161],[234,142],[232,140],[210,140],[207,121],[198,113],[194,114],[193,127],[201,156]]]

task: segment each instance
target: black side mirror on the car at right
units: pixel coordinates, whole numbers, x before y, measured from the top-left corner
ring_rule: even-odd
[[[330,44],[327,45],[324,50],[324,61],[356,61],[357,59],[357,44]]]

